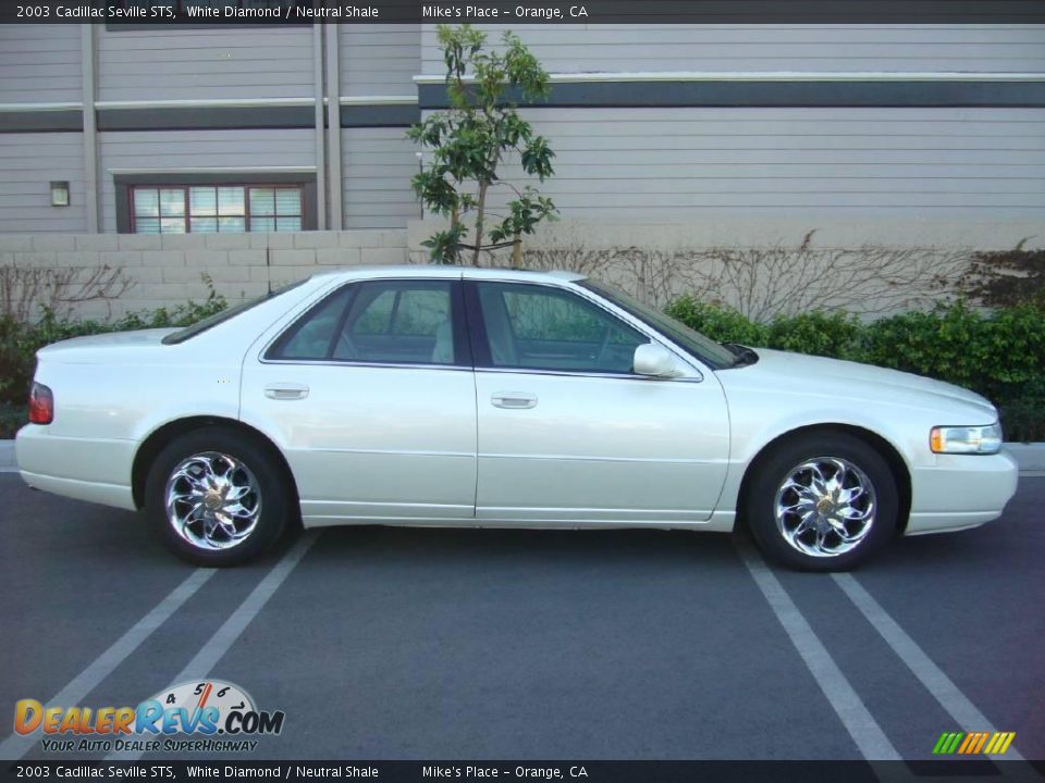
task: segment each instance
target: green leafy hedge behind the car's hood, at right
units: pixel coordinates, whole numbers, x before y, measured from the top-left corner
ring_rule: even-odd
[[[982,313],[959,302],[868,324],[820,312],[754,323],[692,297],[666,311],[723,343],[849,359],[964,386],[998,406],[1006,439],[1045,440],[1045,312],[1037,308]]]

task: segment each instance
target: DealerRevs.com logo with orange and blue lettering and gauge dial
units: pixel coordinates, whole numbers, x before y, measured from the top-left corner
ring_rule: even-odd
[[[91,709],[21,699],[14,731],[40,732],[44,750],[56,753],[244,751],[257,747],[253,737],[282,732],[285,717],[282,710],[259,710],[238,685],[206,680],[180,683],[137,707]]]

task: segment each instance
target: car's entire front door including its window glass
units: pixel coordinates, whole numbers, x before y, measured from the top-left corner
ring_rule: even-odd
[[[640,331],[577,291],[466,281],[476,359],[479,520],[708,520],[729,423],[717,380],[632,372]]]

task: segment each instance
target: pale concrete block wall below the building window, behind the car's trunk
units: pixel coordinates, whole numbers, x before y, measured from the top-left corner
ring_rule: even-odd
[[[286,234],[0,234],[0,268],[121,270],[130,288],[110,300],[79,302],[77,318],[201,301],[204,275],[230,303],[251,299],[317,271],[359,264],[407,263],[405,229]],[[0,274],[3,271],[0,269]]]

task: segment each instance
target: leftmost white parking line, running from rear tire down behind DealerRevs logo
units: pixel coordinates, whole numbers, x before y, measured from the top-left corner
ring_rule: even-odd
[[[90,666],[73,678],[69,685],[59,691],[46,706],[72,707],[83,701],[102,680],[109,676],[127,656],[134,652],[153,631],[162,625],[171,614],[177,611],[214,573],[213,569],[196,569],[193,571],[184,582],[171,591],[167,598],[161,600],[148,614],[138,620],[130,631],[116,639],[109,649],[98,656]],[[0,743],[0,758],[12,761],[20,759],[38,742],[39,735],[36,733],[25,736],[22,734],[12,734],[4,739],[3,743]]]

